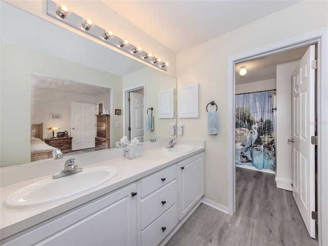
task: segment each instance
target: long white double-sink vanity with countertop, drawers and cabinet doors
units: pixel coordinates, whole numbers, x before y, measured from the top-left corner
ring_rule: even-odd
[[[204,141],[166,145],[76,156],[83,171],[56,179],[66,159],[2,168],[1,245],[164,244],[204,194]]]

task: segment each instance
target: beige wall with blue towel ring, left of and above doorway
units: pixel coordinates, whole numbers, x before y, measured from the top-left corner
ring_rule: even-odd
[[[199,84],[199,118],[183,119],[183,130],[186,138],[206,140],[205,197],[228,205],[227,131],[234,127],[227,123],[228,83],[233,83],[228,81],[228,57],[327,27],[327,9],[327,1],[302,1],[177,54],[177,86]],[[211,100],[218,106],[218,135],[207,134]]]

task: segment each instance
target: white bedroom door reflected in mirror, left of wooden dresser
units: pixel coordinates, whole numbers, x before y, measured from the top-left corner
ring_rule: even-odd
[[[71,102],[72,150],[95,147],[96,105]]]

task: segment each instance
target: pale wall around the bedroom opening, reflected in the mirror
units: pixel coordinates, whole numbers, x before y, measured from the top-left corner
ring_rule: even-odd
[[[114,92],[118,92],[113,93],[113,108],[122,107],[121,76],[3,41],[1,42],[1,59],[2,167],[30,161],[30,77],[32,73],[111,88]],[[122,117],[112,115],[112,120],[121,122]],[[118,129],[121,130],[121,128]],[[122,133],[115,131],[112,135],[114,139],[120,139]],[[18,155],[16,150],[19,150]]]

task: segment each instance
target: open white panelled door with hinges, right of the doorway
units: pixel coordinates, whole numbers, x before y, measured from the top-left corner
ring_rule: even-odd
[[[315,155],[311,136],[315,125],[315,45],[310,46],[293,72],[293,196],[312,238],[315,238]]]

